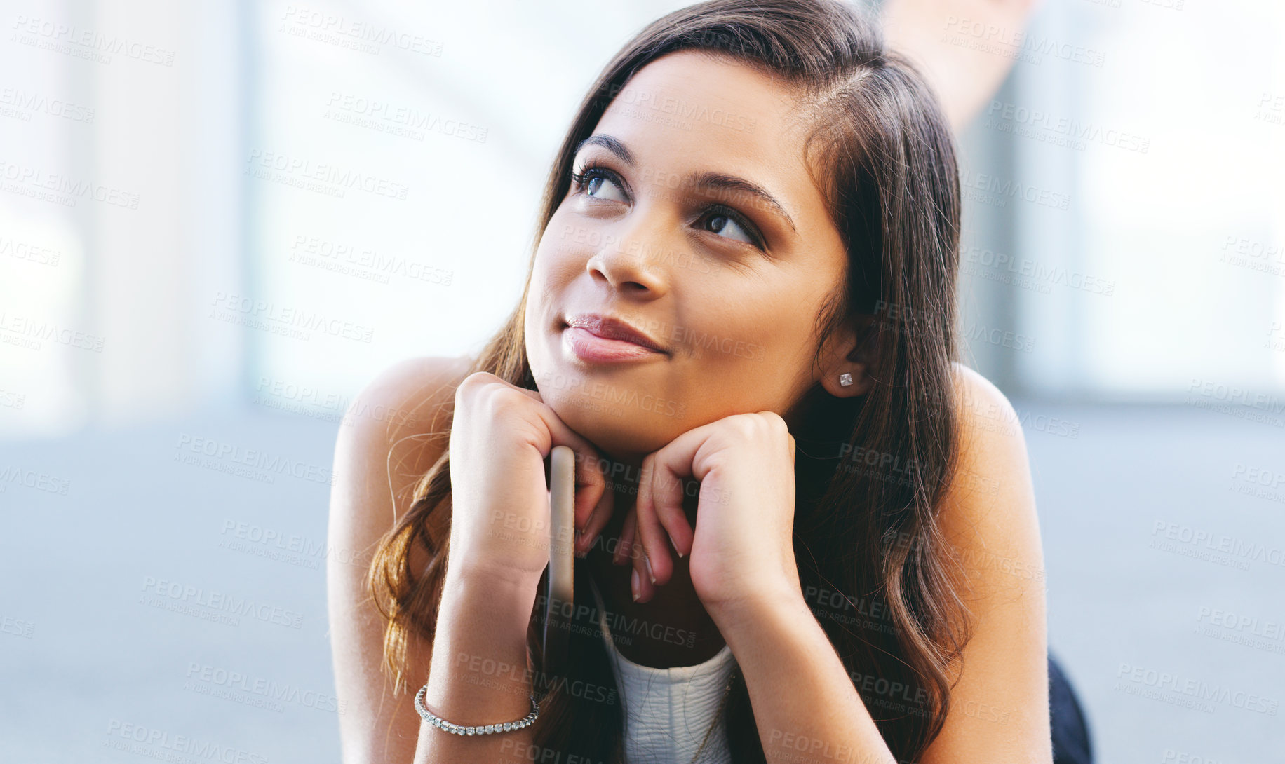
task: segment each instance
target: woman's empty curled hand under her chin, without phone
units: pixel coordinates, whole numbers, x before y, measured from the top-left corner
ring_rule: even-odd
[[[682,508],[682,478],[700,482],[695,529]],[[691,586],[713,612],[799,589],[793,532],[794,437],[775,412],[738,413],[642,460],[614,561],[632,557],[635,598],[645,602],[673,574],[672,539],[680,556],[690,556]]]

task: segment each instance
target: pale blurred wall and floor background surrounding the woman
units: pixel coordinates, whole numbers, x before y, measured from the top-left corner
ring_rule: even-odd
[[[338,761],[338,422],[490,338],[576,105],[680,5],[5,4],[0,760]],[[1285,8],[867,6],[957,122],[968,361],[1099,760],[1277,760]]]

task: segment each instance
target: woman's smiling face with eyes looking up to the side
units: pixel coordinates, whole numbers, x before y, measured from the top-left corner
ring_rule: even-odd
[[[680,51],[640,69],[580,146],[536,252],[527,353],[544,401],[605,452],[788,416],[817,381],[817,315],[847,253],[797,114],[785,83]],[[595,316],[660,351],[595,336],[610,334]]]

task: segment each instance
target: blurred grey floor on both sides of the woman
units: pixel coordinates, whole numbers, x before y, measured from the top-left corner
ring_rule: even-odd
[[[1027,443],[1051,647],[1097,760],[1285,760],[1285,478],[1240,478],[1285,474],[1285,429],[1014,403],[1078,428],[1031,416]],[[334,433],[247,410],[0,446],[0,761],[338,761]],[[271,460],[301,476],[224,471]]]

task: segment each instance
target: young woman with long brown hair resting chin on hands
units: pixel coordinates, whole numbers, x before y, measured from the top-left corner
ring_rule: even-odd
[[[373,552],[328,570],[344,761],[1051,761],[1025,446],[959,362],[959,229],[941,108],[849,6],[631,40],[506,325],[342,428],[330,543]],[[555,446],[577,607],[546,673]]]

